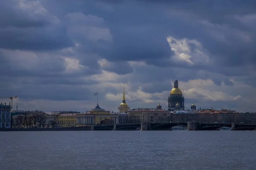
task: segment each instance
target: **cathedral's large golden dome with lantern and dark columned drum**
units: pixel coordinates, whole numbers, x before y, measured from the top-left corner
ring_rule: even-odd
[[[168,110],[184,110],[184,97],[182,96],[182,91],[179,89],[179,82],[175,79],[174,87],[170,92],[170,96],[168,97]]]

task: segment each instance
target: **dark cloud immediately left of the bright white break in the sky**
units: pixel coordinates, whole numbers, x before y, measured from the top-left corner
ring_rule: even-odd
[[[138,61],[168,58],[172,52],[166,37],[157,36],[157,31],[118,27],[113,29],[113,44],[102,55],[110,61]]]

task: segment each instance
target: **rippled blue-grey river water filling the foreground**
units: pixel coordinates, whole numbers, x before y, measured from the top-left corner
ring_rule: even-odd
[[[0,132],[0,170],[256,170],[256,131]]]

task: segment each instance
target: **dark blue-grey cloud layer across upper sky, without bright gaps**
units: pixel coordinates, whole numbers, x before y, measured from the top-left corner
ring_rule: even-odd
[[[133,82],[129,90],[142,87],[148,93],[170,90],[171,79],[212,79],[232,87],[232,78],[256,87],[255,6],[253,0],[3,1],[0,77],[5,81],[0,92],[24,99],[92,99],[88,96],[99,81],[84,77],[103,70],[126,76],[119,81]],[[175,59],[180,53],[171,50],[167,37],[201,43],[172,41],[189,51],[193,65]],[[78,59],[79,71],[67,71],[65,57]],[[100,59],[108,64],[100,65]]]

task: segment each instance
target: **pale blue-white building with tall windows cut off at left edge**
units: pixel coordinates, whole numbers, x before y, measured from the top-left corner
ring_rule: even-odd
[[[0,104],[0,128],[11,127],[11,104]]]

